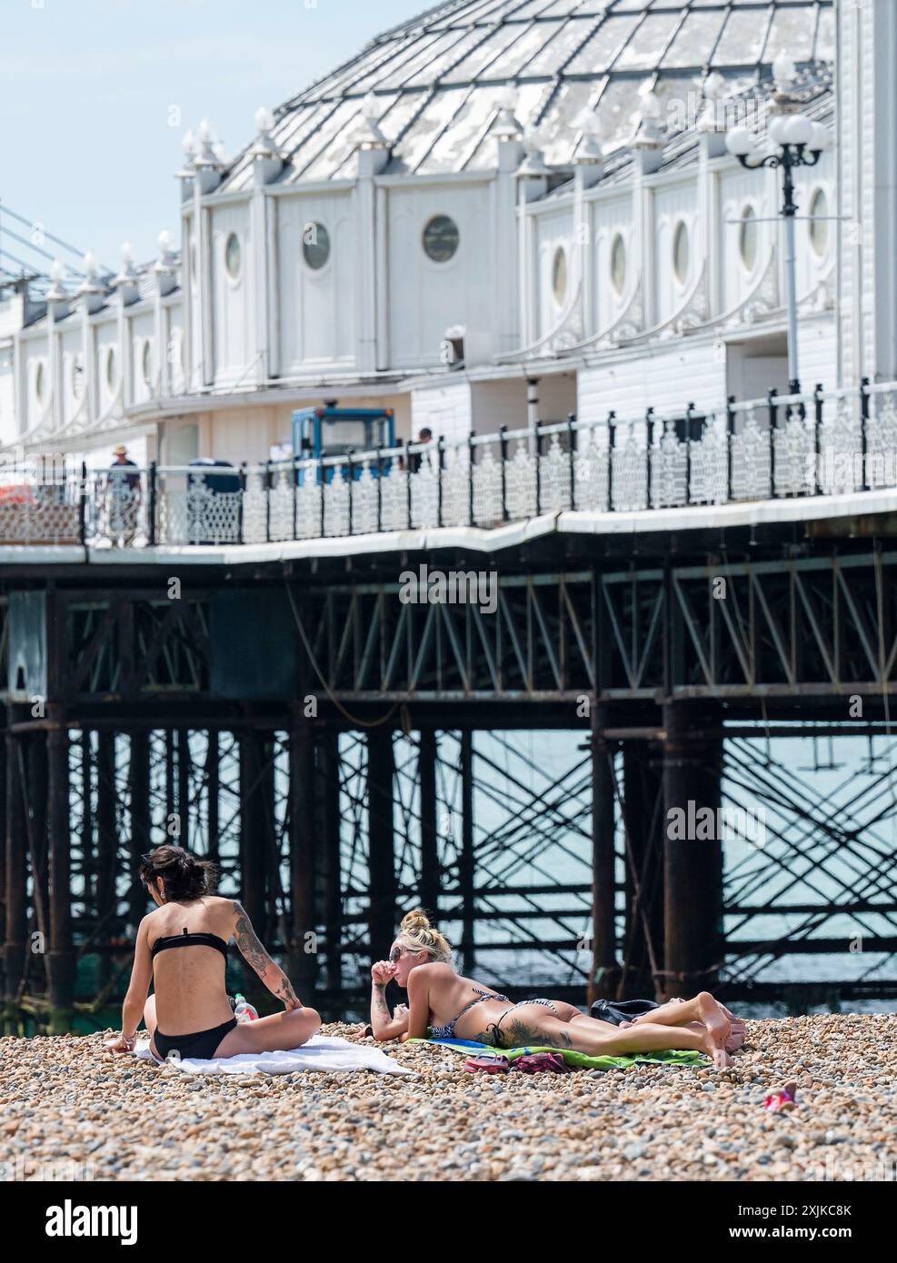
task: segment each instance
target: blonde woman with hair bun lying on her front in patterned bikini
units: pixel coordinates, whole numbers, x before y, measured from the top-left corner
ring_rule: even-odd
[[[475,1039],[497,1048],[536,1045],[575,1048],[593,1056],[690,1048],[713,1057],[718,1068],[740,1047],[744,1023],[701,991],[694,1000],[672,1000],[627,1027],[586,1017],[575,1005],[543,998],[514,1004],[451,964],[451,947],[419,908],[402,921],[389,960],[371,969],[370,1026],[375,1039]],[[409,1005],[390,1015],[385,989],[390,979],[407,988]]]

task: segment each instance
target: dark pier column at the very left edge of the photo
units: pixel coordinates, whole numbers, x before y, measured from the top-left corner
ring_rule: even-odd
[[[25,967],[28,935],[28,855],[25,839],[25,798],[19,774],[19,753],[23,738],[11,726],[28,717],[28,707],[6,707],[6,926],[3,945],[4,956],[4,1029],[16,1033],[15,1004]],[[24,750],[23,750],[24,757]]]

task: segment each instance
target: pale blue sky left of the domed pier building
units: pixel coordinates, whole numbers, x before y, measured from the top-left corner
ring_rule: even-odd
[[[188,128],[207,116],[236,153],[253,139],[260,105],[296,96],[427,8],[427,0],[0,0],[0,249],[23,256],[6,230],[30,236],[3,215],[6,206],[107,268],[117,270],[126,240],[138,261],[155,258],[163,229],[179,242],[174,172]]]

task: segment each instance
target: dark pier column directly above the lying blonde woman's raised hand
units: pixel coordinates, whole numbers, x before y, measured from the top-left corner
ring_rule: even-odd
[[[395,858],[393,855],[393,734],[368,733],[368,932],[371,962],[382,960],[395,937]]]

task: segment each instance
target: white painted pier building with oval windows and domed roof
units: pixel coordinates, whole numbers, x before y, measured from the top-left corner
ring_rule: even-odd
[[[620,0],[606,20],[594,6],[587,35],[574,0],[551,19],[524,5],[526,29],[519,3],[493,5],[502,18],[489,30],[475,8],[447,4],[388,33],[262,119],[229,165],[208,138],[191,149],[179,250],[125,263],[111,284],[88,273],[80,288],[56,285],[35,311],[0,290],[4,450],[105,464],[125,441],[140,461],[239,462],[265,458],[289,436],[292,409],[323,399],[392,407],[399,437],[426,426],[457,440],[533,413],[682,416],[782,390],[780,178],[744,171],[706,125],[700,77],[675,77],[689,64],[676,32],[697,15],[686,6],[677,25],[666,14],[651,33],[644,5]],[[797,177],[800,213],[816,205],[864,224],[859,245],[834,218],[815,236],[797,224],[805,389],[897,376],[893,268],[881,275],[894,250],[896,8],[841,8],[834,88],[828,4],[768,0],[750,53],[768,80],[776,33],[802,40],[822,76],[806,110],[833,144]],[[704,9],[714,68],[743,92],[744,13],[730,0]],[[756,25],[742,43],[759,39]],[[630,42],[611,73],[601,58],[614,32]],[[651,67],[638,32],[661,40]],[[443,83],[437,48],[451,67]],[[488,72],[494,82],[480,81]],[[427,96],[427,82],[438,91]],[[676,91],[692,93],[696,117],[658,128],[646,101],[665,102],[668,121]],[[584,109],[604,120],[600,154]],[[445,220],[454,251],[432,258],[426,234]],[[318,229],[327,249],[310,259]],[[446,362],[447,341],[462,361]]]

